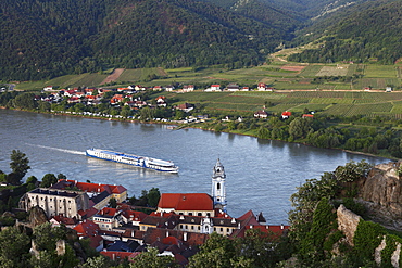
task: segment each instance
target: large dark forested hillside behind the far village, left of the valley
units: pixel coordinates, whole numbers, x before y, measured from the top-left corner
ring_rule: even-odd
[[[4,0],[0,29],[2,80],[105,67],[242,67],[264,61],[288,34],[192,0]]]

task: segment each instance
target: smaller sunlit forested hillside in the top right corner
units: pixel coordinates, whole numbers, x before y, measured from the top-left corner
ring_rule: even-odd
[[[387,1],[382,1],[387,2]],[[388,1],[389,2],[389,1]],[[289,58],[300,62],[378,62],[392,64],[402,56],[402,2],[354,12],[326,30],[319,49]]]

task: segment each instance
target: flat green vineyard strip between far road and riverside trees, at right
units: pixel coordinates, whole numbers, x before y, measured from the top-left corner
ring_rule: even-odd
[[[402,92],[292,91],[292,92],[192,92],[178,94],[183,100],[199,101],[210,110],[249,111],[264,109],[274,114],[304,110],[338,116],[388,116],[402,114]]]

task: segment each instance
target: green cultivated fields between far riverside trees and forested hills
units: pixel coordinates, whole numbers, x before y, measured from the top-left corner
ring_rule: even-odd
[[[16,89],[40,90],[99,86],[108,74],[67,75],[47,81],[21,82]],[[124,69],[110,87],[139,84],[146,87],[196,85],[196,92],[177,94],[161,92],[175,103],[200,103],[209,111],[253,113],[265,109],[269,113],[304,110],[340,116],[388,116],[402,118],[401,69],[399,65],[367,64],[298,64],[275,60],[269,64],[242,68],[138,68]],[[334,79],[335,78],[335,79]],[[203,92],[212,84],[222,87],[235,82],[255,89],[259,82],[274,92]],[[392,87],[393,92],[385,92]]]

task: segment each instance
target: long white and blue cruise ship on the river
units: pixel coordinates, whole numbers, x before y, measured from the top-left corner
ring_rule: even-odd
[[[149,168],[162,173],[177,174],[178,167],[171,161],[162,161],[135,154],[126,154],[102,149],[88,149],[86,155],[99,159],[113,161],[116,163]]]

